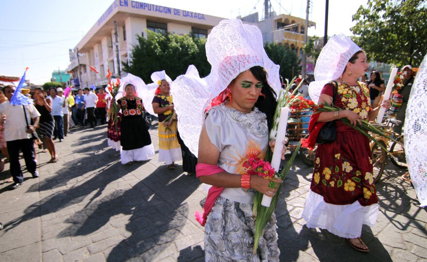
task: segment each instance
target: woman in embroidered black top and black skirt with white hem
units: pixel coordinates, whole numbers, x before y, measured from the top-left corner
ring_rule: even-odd
[[[144,104],[135,95],[135,87],[125,84],[125,96],[117,100],[122,110],[120,158],[122,164],[131,165],[133,161],[142,162],[154,155],[154,147],[142,116]]]

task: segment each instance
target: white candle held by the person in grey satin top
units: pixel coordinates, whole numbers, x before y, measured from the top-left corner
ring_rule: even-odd
[[[280,161],[281,161],[282,150],[283,150],[283,140],[285,140],[286,127],[288,125],[288,114],[289,114],[289,107],[282,107],[280,109],[279,125],[277,128],[277,136],[276,136],[276,145],[274,146],[273,157],[271,158],[271,167],[273,167],[276,172],[279,171],[279,167],[280,167]],[[261,204],[263,206],[269,207],[271,204],[271,197],[263,195],[263,200]]]

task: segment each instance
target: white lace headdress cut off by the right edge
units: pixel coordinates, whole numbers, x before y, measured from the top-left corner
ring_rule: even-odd
[[[405,117],[405,154],[421,206],[427,206],[427,55],[411,88]]]

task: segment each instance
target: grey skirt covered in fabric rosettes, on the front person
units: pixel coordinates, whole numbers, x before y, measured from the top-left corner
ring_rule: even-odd
[[[205,261],[275,262],[279,261],[276,215],[273,213],[253,254],[255,222],[253,204],[218,197],[205,225]]]

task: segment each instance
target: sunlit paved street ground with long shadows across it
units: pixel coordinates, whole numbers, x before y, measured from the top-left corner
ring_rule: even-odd
[[[157,150],[157,129],[150,134]],[[120,164],[119,153],[107,146],[106,125],[72,129],[55,146],[57,163],[47,163],[49,153],[37,154],[40,178],[27,172],[23,185],[9,190],[8,164],[0,175],[1,262],[204,261],[203,227],[194,212],[206,192],[194,175],[181,165],[167,169],[158,154]],[[296,158],[276,209],[280,261],[427,262],[426,209],[399,178],[404,171],[391,163],[386,169],[377,185],[378,222],[363,227],[370,247],[364,254],[304,226],[312,168]]]

